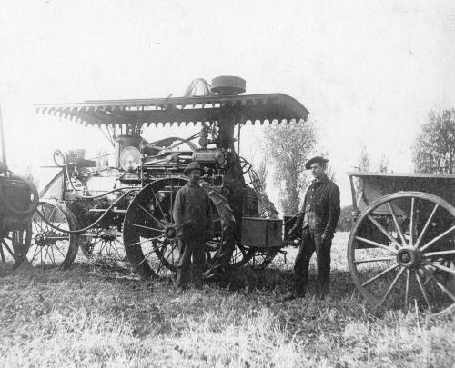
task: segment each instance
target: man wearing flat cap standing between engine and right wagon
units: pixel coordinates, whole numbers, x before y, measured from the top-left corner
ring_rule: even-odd
[[[285,300],[304,297],[308,287],[308,266],[316,251],[318,275],[316,297],[324,299],[329,292],[330,248],[339,221],[339,187],[326,174],[327,160],[316,156],[305,168],[311,170],[314,180],[309,185],[296,224],[289,231],[291,237],[301,231],[301,242],[294,265],[294,290]]]

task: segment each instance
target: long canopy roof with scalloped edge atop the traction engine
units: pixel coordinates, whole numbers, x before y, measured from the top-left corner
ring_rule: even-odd
[[[308,110],[287,94],[208,94],[134,100],[99,100],[79,104],[35,104],[37,114],[53,114],[79,124],[97,126],[197,124],[233,116],[236,124],[295,119],[306,121]]]

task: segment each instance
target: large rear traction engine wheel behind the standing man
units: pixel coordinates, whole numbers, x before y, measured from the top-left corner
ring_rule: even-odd
[[[178,241],[172,209],[177,191],[185,184],[187,179],[182,177],[148,184],[136,195],[126,211],[123,231],[126,255],[137,274],[144,278],[176,270]],[[212,200],[215,214],[214,238],[206,244],[208,271],[219,268],[225,262],[229,254],[226,252],[228,244],[233,243],[233,233],[228,216],[230,208],[225,208],[216,190],[209,187],[204,189]]]

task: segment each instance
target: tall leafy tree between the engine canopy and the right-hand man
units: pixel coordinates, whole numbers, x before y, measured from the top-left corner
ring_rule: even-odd
[[[269,125],[265,140],[275,164],[274,183],[280,187],[279,203],[286,215],[298,213],[300,193],[308,184],[305,163],[314,153],[318,134],[312,122]]]

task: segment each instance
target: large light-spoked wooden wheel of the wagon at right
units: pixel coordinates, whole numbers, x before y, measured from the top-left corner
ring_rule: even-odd
[[[349,236],[349,270],[373,305],[455,311],[455,208],[420,192],[370,204]]]

